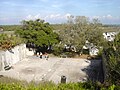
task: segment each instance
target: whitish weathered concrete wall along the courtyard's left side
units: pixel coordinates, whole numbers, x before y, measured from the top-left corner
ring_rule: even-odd
[[[26,57],[26,45],[21,44],[14,47],[11,50],[0,51],[0,71],[4,70],[4,67],[17,63]]]

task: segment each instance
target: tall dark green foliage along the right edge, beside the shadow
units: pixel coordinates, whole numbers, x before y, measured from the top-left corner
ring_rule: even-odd
[[[109,42],[109,46],[105,48],[106,66],[108,72],[108,82],[120,85],[120,34],[118,34],[114,42]]]

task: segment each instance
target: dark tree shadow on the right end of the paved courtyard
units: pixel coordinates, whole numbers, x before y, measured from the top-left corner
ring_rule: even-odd
[[[102,60],[90,59],[86,60],[90,65],[83,68],[82,71],[87,74],[87,80],[103,82]]]

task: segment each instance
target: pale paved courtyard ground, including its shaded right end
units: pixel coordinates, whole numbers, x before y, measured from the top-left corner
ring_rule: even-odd
[[[100,64],[100,60],[56,57],[45,60],[36,56],[28,56],[16,63],[13,69],[1,71],[0,75],[28,82],[47,80],[55,83],[60,83],[61,76],[64,75],[67,82],[79,82],[87,78],[97,79]]]

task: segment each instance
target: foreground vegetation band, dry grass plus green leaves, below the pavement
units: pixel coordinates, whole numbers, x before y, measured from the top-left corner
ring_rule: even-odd
[[[100,82],[77,82],[67,84],[54,84],[53,82],[19,81],[8,77],[0,77],[0,90],[120,90],[120,86],[105,86]]]

